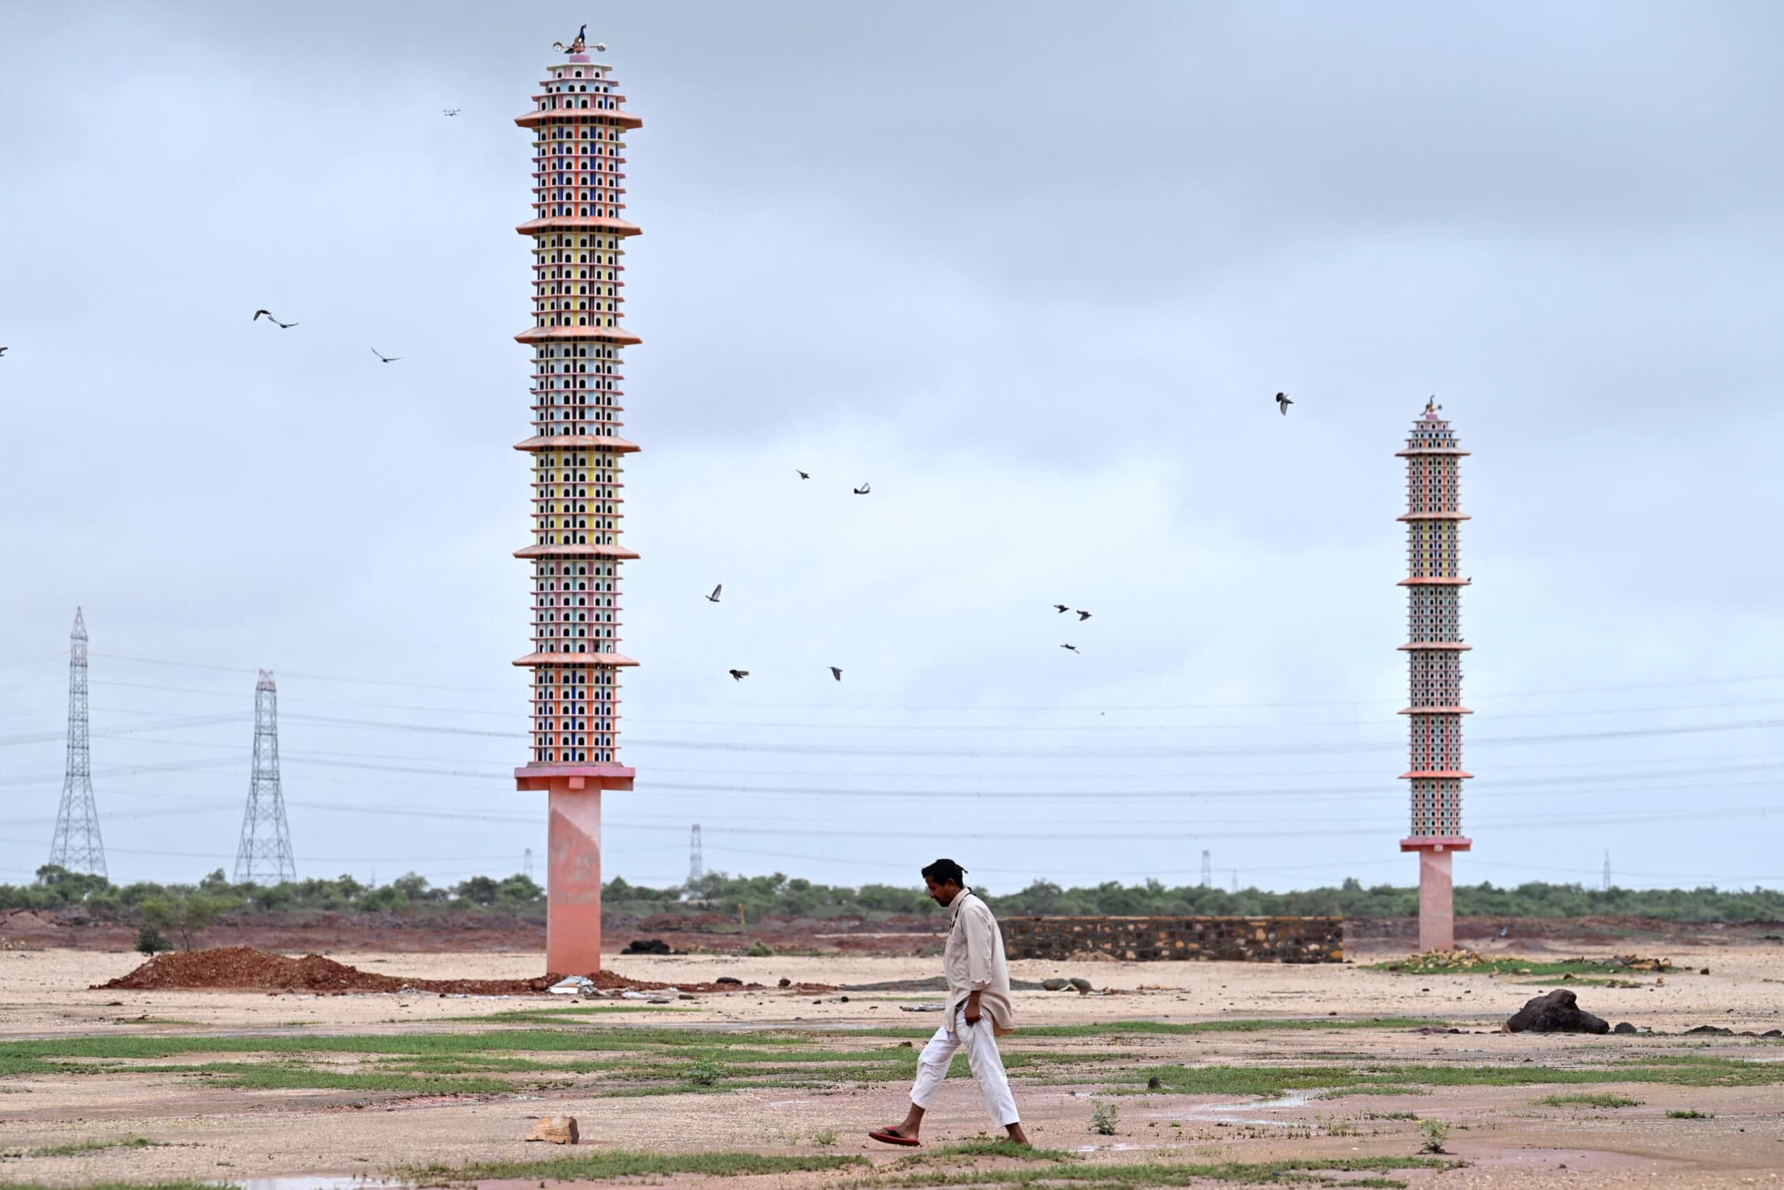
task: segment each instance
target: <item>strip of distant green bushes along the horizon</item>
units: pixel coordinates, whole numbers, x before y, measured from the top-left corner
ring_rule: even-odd
[[[1338,915],[1411,917],[1418,890],[1395,885],[1363,887],[1347,880],[1336,888],[1261,892],[1245,888],[1165,887],[1103,883],[1061,888],[1047,881],[999,896],[979,890],[1003,915]],[[692,887],[646,888],[624,880],[603,887],[608,913],[651,917],[660,913],[723,913],[744,922],[762,917],[894,917],[940,913],[917,887],[862,885],[840,888],[810,880],[772,876],[726,876],[710,872]],[[0,910],[87,908],[100,915],[125,915],[162,931],[182,935],[225,913],[277,912],[507,912],[541,913],[544,888],[528,876],[473,876],[451,887],[435,887],[414,872],[369,887],[351,876],[300,880],[284,885],[235,885],[218,869],[196,885],[112,885],[61,867],[37,869],[30,885],[0,885]],[[1456,913],[1463,917],[1654,917],[1663,921],[1743,922],[1784,921],[1784,892],[1752,888],[1609,888],[1527,883],[1513,888],[1458,885]]]

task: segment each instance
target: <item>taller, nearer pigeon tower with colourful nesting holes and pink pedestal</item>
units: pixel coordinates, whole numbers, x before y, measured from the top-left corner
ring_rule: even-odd
[[[612,68],[578,37],[555,46],[535,109],[514,123],[533,136],[533,325],[514,335],[532,348],[533,541],[532,755],[514,771],[521,790],[549,799],[546,969],[601,969],[601,792],[632,789],[619,762],[621,351],[639,337],[619,325],[624,244],[639,227],[621,218],[628,130]],[[605,50],[607,46],[594,46]]]

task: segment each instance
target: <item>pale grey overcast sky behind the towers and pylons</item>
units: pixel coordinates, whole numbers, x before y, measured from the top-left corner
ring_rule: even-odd
[[[0,880],[77,605],[114,880],[232,867],[257,667],[301,874],[542,871],[512,120],[580,21],[644,120],[608,876],[1413,883],[1436,394],[1458,880],[1784,885],[1763,0],[9,5]]]

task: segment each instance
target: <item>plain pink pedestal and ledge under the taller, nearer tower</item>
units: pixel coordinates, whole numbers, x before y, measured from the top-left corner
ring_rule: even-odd
[[[617,764],[530,765],[516,785],[549,794],[546,835],[546,971],[592,976],[601,969],[601,790],[632,789]]]

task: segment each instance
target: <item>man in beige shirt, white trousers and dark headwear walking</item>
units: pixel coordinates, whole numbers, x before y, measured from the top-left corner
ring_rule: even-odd
[[[890,1128],[871,1133],[888,1145],[917,1145],[922,1113],[935,1088],[947,1078],[947,1065],[960,1047],[967,1051],[967,1065],[985,1095],[985,1110],[992,1122],[1008,1129],[1010,1140],[1028,1144],[1022,1120],[1015,1111],[1010,1079],[997,1053],[997,1033],[1008,1033],[1012,1022],[1010,969],[1004,965],[1003,935],[990,906],[972,896],[962,883],[967,869],[953,860],[937,860],[922,869],[922,881],[937,905],[947,906],[947,954],[942,967],[947,972],[947,1004],[942,1008],[942,1028],[917,1058],[917,1083],[910,1088],[910,1111]]]

